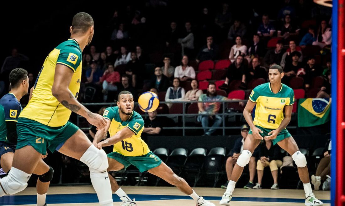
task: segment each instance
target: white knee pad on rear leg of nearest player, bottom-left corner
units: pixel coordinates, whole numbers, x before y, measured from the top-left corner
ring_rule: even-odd
[[[0,180],[1,186],[7,194],[13,195],[23,191],[28,186],[31,174],[11,167],[8,175]],[[1,188],[0,188],[1,189]]]

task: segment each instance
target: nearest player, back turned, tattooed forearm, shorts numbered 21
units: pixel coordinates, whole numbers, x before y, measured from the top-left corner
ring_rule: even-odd
[[[26,188],[41,154],[48,148],[88,165],[100,205],[111,206],[112,194],[106,153],[98,150],[77,126],[68,121],[71,112],[85,117],[98,129],[105,119],[77,101],[81,79],[81,53],[93,37],[93,19],[77,13],[70,27],[71,38],[49,53],[28,105],[18,118],[18,142],[8,176],[0,180],[0,196]]]

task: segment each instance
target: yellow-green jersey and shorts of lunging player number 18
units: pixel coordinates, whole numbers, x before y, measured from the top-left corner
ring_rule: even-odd
[[[108,107],[103,117],[110,120],[109,134],[114,136],[118,131],[128,128],[133,132],[130,138],[114,144],[113,152],[108,158],[115,159],[127,168],[129,165],[136,166],[140,172],[150,170],[161,164],[161,160],[153,154],[144,140],[141,133],[144,130],[144,120],[136,111],[133,111],[126,121],[122,121],[119,115],[119,107]]]

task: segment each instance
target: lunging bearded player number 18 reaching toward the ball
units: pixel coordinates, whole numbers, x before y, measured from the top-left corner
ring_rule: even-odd
[[[132,164],[140,172],[148,171],[175,185],[180,191],[193,198],[197,206],[215,206],[203,197],[198,196],[187,182],[172,172],[170,167],[152,153],[147,144],[141,139],[144,120],[136,111],[133,111],[133,95],[129,91],[121,91],[117,99],[117,107],[108,107],[104,111],[103,117],[106,118],[107,126],[98,130],[93,140],[93,144],[98,145],[99,149],[114,145],[113,152],[108,154],[108,171],[126,169]],[[110,138],[99,142],[106,137],[108,130]],[[119,187],[115,179],[111,175],[109,177],[112,191],[123,201],[121,206],[136,205],[135,199],[131,200]]]

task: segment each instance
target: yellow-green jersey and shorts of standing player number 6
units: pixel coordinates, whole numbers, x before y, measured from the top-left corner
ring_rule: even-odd
[[[271,83],[265,83],[255,87],[249,96],[250,101],[256,102],[255,117],[253,123],[256,127],[261,129],[264,133],[260,133],[262,137],[279,127],[284,119],[284,107],[294,104],[295,96],[294,90],[285,84],[282,84],[277,94],[274,94]],[[252,134],[252,130],[249,130]],[[283,129],[273,140],[273,143],[291,137],[287,129]]]

